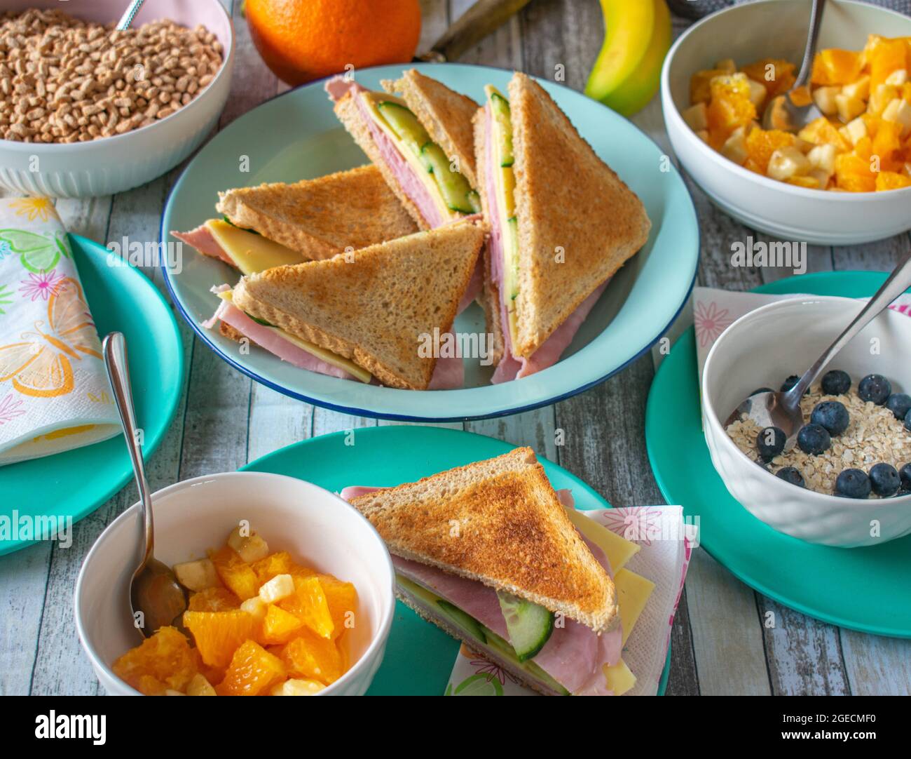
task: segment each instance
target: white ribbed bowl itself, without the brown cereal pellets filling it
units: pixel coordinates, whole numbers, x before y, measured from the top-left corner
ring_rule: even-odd
[[[125,0],[9,0],[3,10],[58,8],[107,23],[117,20],[127,5]],[[202,24],[219,38],[223,62],[209,87],[168,118],[114,137],[59,145],[0,140],[0,184],[14,192],[60,198],[124,192],[173,169],[200,146],[228,99],[234,68],[230,16],[220,0],[155,0],[143,5],[133,23],[159,18],[191,27]]]

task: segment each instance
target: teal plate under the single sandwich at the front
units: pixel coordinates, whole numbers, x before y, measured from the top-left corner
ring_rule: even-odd
[[[296,442],[242,469],[286,474],[338,493],[346,485],[414,482],[516,447],[472,432],[441,427],[367,427],[355,432],[353,445],[345,445],[346,434],[334,432]],[[610,508],[607,501],[575,475],[546,459],[539,461],[555,488],[572,490],[577,508]],[[443,695],[458,647],[458,641],[396,601],[383,664],[367,694]],[[661,674],[660,695],[667,688],[669,673],[670,650]]]

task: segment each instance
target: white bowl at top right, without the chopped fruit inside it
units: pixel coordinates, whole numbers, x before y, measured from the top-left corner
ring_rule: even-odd
[[[809,0],[764,0],[706,16],[677,40],[661,71],[661,106],[670,144],[712,202],[751,229],[789,241],[868,243],[911,228],[911,188],[888,192],[823,192],[776,182],[728,161],[687,126],[690,78],[723,58],[742,66],[763,57],[799,63]],[[826,4],[819,47],[859,50],[868,34],[911,36],[911,18],[876,5]]]

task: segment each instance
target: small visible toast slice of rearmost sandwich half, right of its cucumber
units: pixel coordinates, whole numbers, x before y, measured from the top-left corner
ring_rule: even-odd
[[[387,92],[402,96],[430,139],[443,148],[450,160],[457,159],[459,172],[477,188],[471,126],[477,103],[436,79],[425,77],[416,68],[404,71],[400,79],[385,79],[382,85]]]

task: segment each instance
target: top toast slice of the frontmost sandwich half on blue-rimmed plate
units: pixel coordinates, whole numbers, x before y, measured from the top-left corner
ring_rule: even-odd
[[[484,239],[480,220],[467,218],[327,261],[279,266],[243,276],[231,305],[384,385],[451,387],[436,374],[444,359],[427,348],[452,329]],[[454,360],[460,373],[462,361]]]

